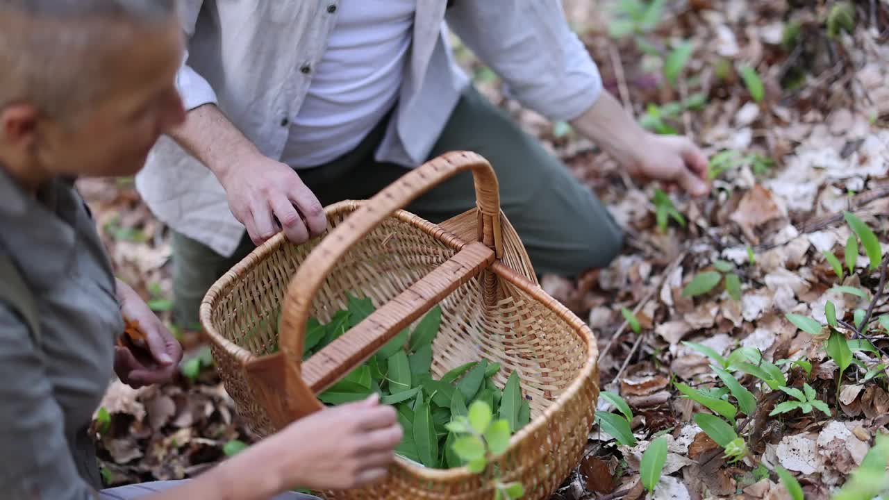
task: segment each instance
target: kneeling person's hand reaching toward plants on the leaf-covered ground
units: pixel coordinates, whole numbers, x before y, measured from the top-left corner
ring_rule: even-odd
[[[707,157],[687,137],[646,132],[642,143],[621,159],[630,175],[678,185],[695,197],[710,192]]]

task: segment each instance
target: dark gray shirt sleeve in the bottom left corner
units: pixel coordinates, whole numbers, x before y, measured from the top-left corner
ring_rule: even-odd
[[[76,375],[76,374],[72,374]],[[0,302],[0,491],[11,500],[92,500],[78,476],[44,361],[25,321]]]

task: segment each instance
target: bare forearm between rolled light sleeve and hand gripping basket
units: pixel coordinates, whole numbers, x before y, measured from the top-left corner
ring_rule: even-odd
[[[240,158],[259,155],[256,146],[212,104],[188,111],[185,123],[170,133],[172,139],[224,178]]]

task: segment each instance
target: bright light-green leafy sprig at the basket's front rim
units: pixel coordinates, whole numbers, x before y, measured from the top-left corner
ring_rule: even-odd
[[[451,449],[475,473],[485,471],[494,456],[509,448],[509,426],[507,419],[493,420],[493,411],[485,401],[472,403],[467,415],[457,415],[445,425],[456,436]],[[495,500],[513,500],[524,495],[521,483],[503,483],[499,477],[494,480]]]

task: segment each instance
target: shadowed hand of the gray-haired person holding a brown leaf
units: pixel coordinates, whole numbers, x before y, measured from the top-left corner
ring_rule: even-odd
[[[145,335],[145,349],[130,343],[115,348],[114,369],[121,382],[133,388],[164,383],[172,378],[182,359],[182,347],[155,313],[130,286],[117,280],[117,300],[124,320],[135,323]],[[122,333],[122,335],[126,335]]]

